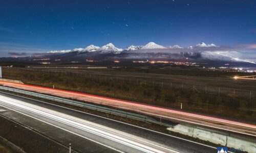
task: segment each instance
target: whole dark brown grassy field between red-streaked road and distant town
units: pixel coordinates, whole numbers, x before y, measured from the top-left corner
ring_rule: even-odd
[[[79,73],[77,73],[79,72]],[[87,75],[84,75],[86,73]],[[96,77],[89,77],[88,74],[95,74]],[[246,119],[255,121],[255,97],[254,90],[256,82],[245,80],[233,80],[230,78],[216,77],[195,77],[184,75],[169,75],[158,73],[141,73],[116,69],[75,69],[69,72],[44,72],[44,71],[28,71],[24,69],[3,69],[4,78],[21,80],[26,84],[40,85],[46,87],[78,91],[83,93],[91,93],[120,99],[139,101],[162,107],[179,109],[182,103],[183,109],[198,113],[207,113],[217,116],[225,116],[237,119]],[[97,77],[99,76],[99,77]],[[112,76],[116,79],[105,80],[104,76]],[[122,79],[125,78],[125,79]],[[135,84],[130,84],[127,78],[134,81],[140,79]],[[162,88],[161,84],[154,86],[146,84],[142,80],[150,82],[164,81],[173,84],[179,84],[172,89]],[[181,83],[183,90],[181,89]],[[152,83],[152,82],[151,82]],[[195,85],[197,91],[189,90]],[[204,89],[200,87],[207,86],[209,89],[215,89],[216,93],[220,87],[222,90],[230,90],[220,94],[204,93]],[[187,87],[187,88],[186,88]],[[233,89],[236,94],[233,94]],[[229,91],[228,90],[228,91]],[[241,95],[238,92],[244,91]],[[246,91],[246,92],[245,92]],[[249,92],[252,91],[251,100]],[[209,91],[210,92],[210,91]],[[245,94],[247,93],[247,94]]]

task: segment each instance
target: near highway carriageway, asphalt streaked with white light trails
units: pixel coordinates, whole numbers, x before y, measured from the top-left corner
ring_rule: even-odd
[[[5,116],[29,124],[34,129],[48,132],[52,127],[43,128],[42,126],[45,125],[39,126],[41,123],[38,122],[47,123],[49,126],[78,136],[79,138],[75,137],[74,141],[86,139],[93,142],[96,148],[97,145],[103,147],[102,150],[110,149],[113,152],[216,152],[215,147],[2,92],[0,92],[0,109],[6,109]],[[27,119],[22,116],[26,116]],[[32,121],[31,118],[38,122]],[[65,137],[63,132],[52,134],[59,134],[57,137],[61,138]],[[67,143],[72,143],[72,139],[69,139]],[[84,145],[86,144],[76,147],[78,150],[82,150]],[[84,151],[94,152],[82,150],[82,152]]]

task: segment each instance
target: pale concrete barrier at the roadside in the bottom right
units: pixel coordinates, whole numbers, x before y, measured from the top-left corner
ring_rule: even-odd
[[[177,124],[174,127],[167,128],[167,130],[222,146],[243,149],[243,151],[247,152],[255,152],[256,150],[256,139],[247,136],[188,124]]]

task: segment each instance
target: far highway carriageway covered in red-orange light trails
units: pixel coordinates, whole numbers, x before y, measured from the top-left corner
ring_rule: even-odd
[[[45,93],[50,95],[55,95],[59,97],[65,98],[72,98],[78,99],[82,101],[88,101],[94,104],[100,104],[105,106],[111,106],[118,109],[135,111],[155,117],[161,117],[162,119],[172,120],[181,123],[189,123],[194,125],[200,125],[204,127],[210,127],[212,129],[217,130],[224,130],[233,133],[248,135],[256,137],[256,125],[242,123],[237,121],[231,121],[216,117],[210,117],[205,115],[199,115],[194,113],[187,113],[183,111],[177,111],[167,108],[161,108],[141,103],[135,103],[133,101],[126,101],[84,93],[77,93],[65,90],[58,90],[52,88],[45,88],[45,87],[38,87],[38,86],[31,86],[25,84],[18,84],[18,83],[10,83],[10,82],[3,82],[0,81],[0,85],[23,89],[28,91],[34,91],[38,93]]]

